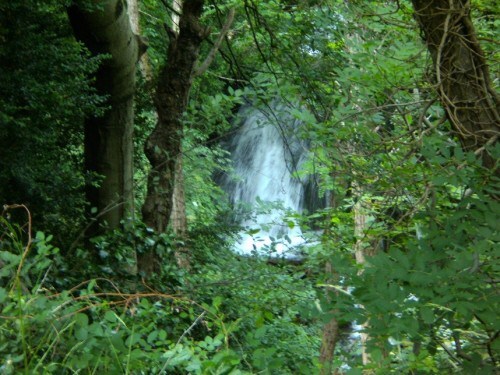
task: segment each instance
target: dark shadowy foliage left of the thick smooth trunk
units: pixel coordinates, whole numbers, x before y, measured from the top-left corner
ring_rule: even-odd
[[[102,98],[90,87],[99,60],[72,37],[66,1],[0,6],[0,197],[25,202],[59,242],[83,219],[83,116]]]

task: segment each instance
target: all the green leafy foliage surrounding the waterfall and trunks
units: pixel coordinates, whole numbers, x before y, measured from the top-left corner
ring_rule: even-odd
[[[498,11],[472,3],[498,85]],[[332,317],[340,373],[495,373],[499,181],[450,131],[408,2],[207,2],[211,40],[237,13],[182,119],[188,236],[135,220],[86,244],[81,124],[103,109],[102,57],[74,41],[66,5],[0,5],[0,198],[29,203],[37,227],[30,242],[24,213],[0,217],[0,373],[311,374]],[[141,6],[154,76],[171,13]],[[137,207],[153,83],[136,96]],[[296,221],[322,231],[299,265],[232,252],[239,228],[213,178],[230,172],[220,141],[236,112],[276,98],[295,104],[311,156],[299,173],[329,201]],[[150,251],[163,263],[144,284],[133,255]]]

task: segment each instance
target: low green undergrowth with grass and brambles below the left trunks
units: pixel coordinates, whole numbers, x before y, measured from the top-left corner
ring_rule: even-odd
[[[114,272],[113,256],[79,273],[82,252],[62,254],[42,232],[32,238],[26,212],[22,226],[0,217],[0,374],[314,372],[317,326],[300,318],[314,292],[300,270],[193,245],[218,261],[191,275],[165,265],[148,284]],[[126,247],[129,235],[96,246]]]

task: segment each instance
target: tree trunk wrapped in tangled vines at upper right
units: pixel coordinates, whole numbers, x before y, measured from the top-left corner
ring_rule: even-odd
[[[412,0],[432,56],[441,104],[465,150],[480,155],[498,176],[484,149],[498,142],[500,116],[488,65],[470,17],[470,1]]]

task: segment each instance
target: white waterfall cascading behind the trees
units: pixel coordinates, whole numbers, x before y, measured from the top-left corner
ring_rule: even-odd
[[[257,212],[241,221],[246,230],[235,244],[240,254],[295,258],[304,243],[300,227],[286,215],[302,212],[304,184],[295,172],[307,154],[297,136],[300,122],[289,110],[273,103],[239,112],[243,123],[228,147],[235,176],[225,177],[222,186],[235,206],[250,205]]]

